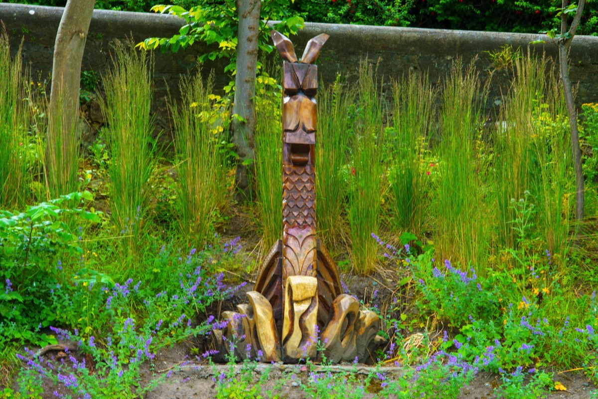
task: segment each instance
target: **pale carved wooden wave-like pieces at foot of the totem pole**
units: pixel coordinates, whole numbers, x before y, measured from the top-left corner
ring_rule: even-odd
[[[314,289],[317,282],[306,276],[294,277],[303,279],[289,278],[287,284],[288,306],[283,321],[286,340],[280,343],[269,301],[257,291],[250,291],[249,305],[240,304],[237,312],[222,313],[228,323],[224,329],[213,331],[218,350],[215,360],[297,363],[307,359],[321,362],[325,358],[328,363],[374,363],[377,349],[386,343],[377,335],[379,316],[371,310],[360,310],[355,297],[341,294],[332,301],[328,324],[319,334]]]

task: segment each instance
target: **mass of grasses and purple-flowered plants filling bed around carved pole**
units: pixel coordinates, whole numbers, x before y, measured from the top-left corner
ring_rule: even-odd
[[[199,75],[183,80],[188,96],[170,100],[174,151],[158,159],[148,136],[151,64],[122,51],[118,59],[130,62],[123,71],[138,75],[112,86],[115,75],[102,77],[104,111],[134,108],[139,125],[107,118],[105,144],[97,141],[92,159],[80,160],[70,194],[51,198],[46,188],[37,196],[33,184],[5,183],[10,192],[27,190],[0,211],[4,397],[139,397],[169,374],[154,356],[175,342],[190,342],[190,361],[205,363],[214,355],[209,332],[219,326],[218,303],[251,280],[246,270],[257,263],[257,251],[239,240],[261,237],[269,246],[279,237],[276,73],[257,90],[257,197],[239,205],[228,189],[227,100]],[[514,59],[512,87],[490,127],[472,66],[457,62],[437,89],[423,74],[385,86],[371,62],[360,71],[355,91],[341,76],[319,95],[318,229],[343,270],[352,270],[343,278],[377,273],[376,288],[368,280],[367,292],[350,293],[380,313],[389,344],[365,376],[337,373],[325,361],[316,371],[306,360],[281,383],[295,382],[306,397],[456,398],[483,372],[497,376],[496,397],[512,398],[565,388],[544,367],[579,369],[596,382],[596,105],[582,105],[580,118],[588,220],[579,226],[566,112],[550,60]],[[108,93],[131,81],[144,83],[145,94],[115,109]],[[7,123],[15,127],[8,133],[48,145],[22,120]],[[132,132],[136,141],[117,142]],[[259,224],[248,214],[260,215]],[[235,229],[240,239],[230,236]],[[384,297],[383,286],[393,288]],[[37,353],[48,344],[63,345],[65,355]],[[264,392],[267,376],[254,378],[255,366],[247,360],[240,375],[231,367],[216,376],[214,396],[275,395]],[[405,372],[391,377],[385,366]]]

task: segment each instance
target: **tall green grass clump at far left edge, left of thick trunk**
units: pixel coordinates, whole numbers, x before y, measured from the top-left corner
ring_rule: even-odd
[[[29,74],[23,71],[21,50],[13,59],[8,36],[0,35],[0,207],[9,209],[21,208],[29,197]]]

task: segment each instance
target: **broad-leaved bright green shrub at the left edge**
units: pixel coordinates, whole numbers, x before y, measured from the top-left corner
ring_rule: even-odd
[[[90,193],[71,193],[50,202],[29,206],[25,212],[0,211],[0,343],[45,345],[55,339],[39,331],[56,320],[49,300],[65,281],[57,256],[81,254],[77,234],[67,221],[99,221],[99,215],[72,208]]]

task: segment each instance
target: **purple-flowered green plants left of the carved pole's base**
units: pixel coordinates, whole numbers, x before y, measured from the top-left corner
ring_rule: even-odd
[[[80,270],[68,284],[54,287],[48,299],[57,315],[54,322],[74,328],[74,333],[63,328],[51,330],[62,340],[78,342],[88,361],[69,353],[69,360],[53,366],[56,373],[47,362],[25,349],[30,361],[22,369],[21,389],[29,389],[30,381],[43,376],[81,397],[137,397],[148,392],[172,372],[154,373],[152,365],[147,376],[142,364],[152,364],[155,352],[163,346],[210,331],[213,316],[196,325],[195,315],[239,289],[225,286],[222,273],[214,272],[214,268],[230,261],[236,251],[233,243],[226,243],[211,253],[191,249],[187,256],[180,257],[178,252],[163,247],[160,256],[170,263],[167,275],[179,278],[161,278],[158,293],[154,287],[144,287],[141,281],[135,286],[132,279],[118,284],[103,273]],[[139,304],[143,304],[142,312]]]

